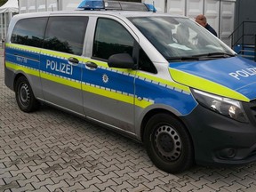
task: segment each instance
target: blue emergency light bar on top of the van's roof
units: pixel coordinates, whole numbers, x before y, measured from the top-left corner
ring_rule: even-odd
[[[82,10],[116,10],[137,12],[154,12],[154,10],[156,10],[156,8],[151,4],[106,0],[82,0],[77,8]]]

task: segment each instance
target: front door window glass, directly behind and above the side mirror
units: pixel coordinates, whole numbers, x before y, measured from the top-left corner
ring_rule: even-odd
[[[103,60],[116,53],[129,53],[132,56],[134,39],[115,20],[100,18],[97,22],[93,41],[92,56]]]

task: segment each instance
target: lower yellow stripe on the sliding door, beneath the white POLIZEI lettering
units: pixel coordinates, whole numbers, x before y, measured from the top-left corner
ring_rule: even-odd
[[[81,89],[81,82],[71,81],[70,79],[66,79],[61,76],[52,76],[51,74],[46,74],[44,72],[41,72],[41,77],[58,84],[65,84],[76,89]]]

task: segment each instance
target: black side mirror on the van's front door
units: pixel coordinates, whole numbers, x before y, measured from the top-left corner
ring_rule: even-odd
[[[135,68],[134,61],[128,53],[118,53],[108,58],[109,68]]]

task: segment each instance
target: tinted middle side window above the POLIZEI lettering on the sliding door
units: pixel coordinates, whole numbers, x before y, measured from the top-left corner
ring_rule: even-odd
[[[44,48],[81,55],[88,17],[50,17],[44,37]]]

